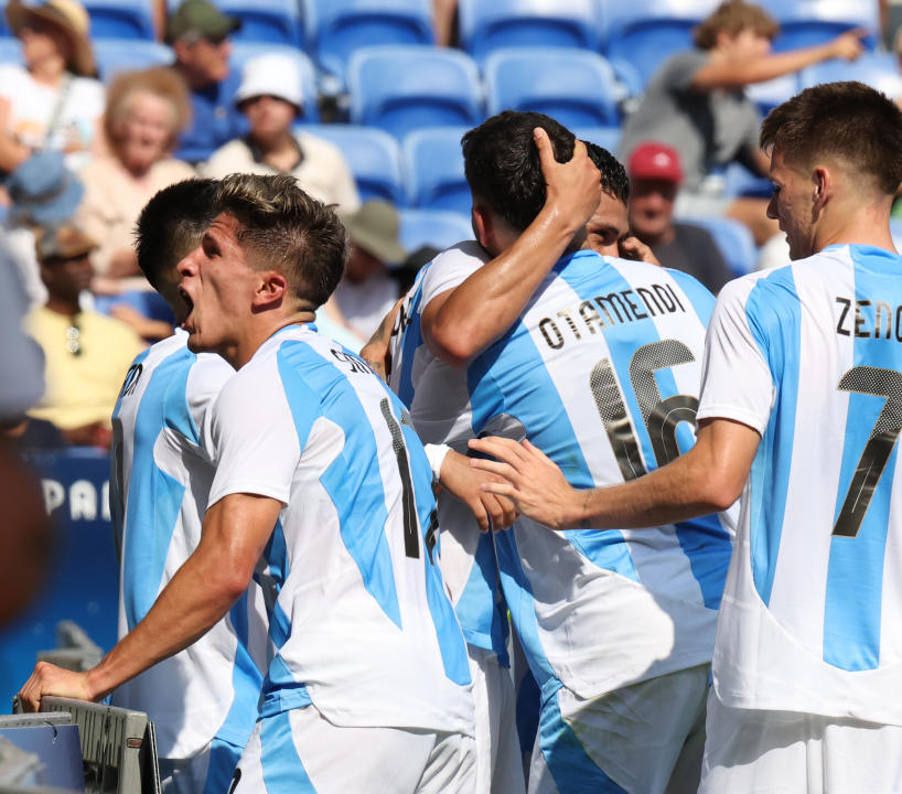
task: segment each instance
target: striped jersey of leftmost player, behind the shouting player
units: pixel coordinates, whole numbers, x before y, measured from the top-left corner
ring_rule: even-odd
[[[196,356],[186,342],[176,331],[141,353],[112,414],[120,637],[201,539],[213,482],[211,406],[235,371],[219,356]],[[243,745],[257,719],[266,652],[266,613],[254,586],[196,643],[119,687],[114,702],[148,712],[161,758],[189,758],[214,737]]]

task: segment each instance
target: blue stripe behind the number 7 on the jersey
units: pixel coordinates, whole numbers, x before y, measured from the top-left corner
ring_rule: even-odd
[[[849,246],[849,254],[855,262],[857,300],[873,301],[879,298],[892,307],[902,303],[898,256],[865,246]],[[878,328],[872,302],[870,305],[859,305],[858,311],[867,318],[867,328]],[[895,341],[852,339],[855,366],[899,371],[900,355]],[[890,399],[895,401],[900,397],[893,395]],[[884,397],[856,391],[849,394],[834,522],[842,509],[861,453],[885,405]],[[876,669],[880,666],[883,564],[898,449],[896,442],[858,534],[855,537],[834,535],[830,539],[824,604],[824,661],[846,670]]]

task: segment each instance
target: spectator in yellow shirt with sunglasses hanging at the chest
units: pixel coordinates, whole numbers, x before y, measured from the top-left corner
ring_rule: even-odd
[[[29,314],[25,328],[44,351],[46,390],[28,414],[53,422],[71,443],[108,447],[119,388],[142,345],[125,323],[80,308],[96,247],[71,224],[37,233],[47,302]]]

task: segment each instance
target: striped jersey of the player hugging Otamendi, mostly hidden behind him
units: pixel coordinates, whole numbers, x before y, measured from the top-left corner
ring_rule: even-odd
[[[423,443],[447,443],[466,454],[470,394],[466,373],[432,355],[423,343],[420,316],[437,296],[453,289],[488,261],[474,240],[439,254],[420,270],[405,296],[391,337],[389,385],[410,410]],[[441,568],[466,642],[507,658],[507,607],[501,598],[492,536],[481,533],[470,508],[448,492],[438,495]]]

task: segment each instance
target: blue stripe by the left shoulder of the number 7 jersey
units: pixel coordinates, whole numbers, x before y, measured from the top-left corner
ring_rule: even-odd
[[[745,301],[745,316],[771,369],[771,378],[778,384],[767,429],[749,475],[752,577],[766,605],[771,601],[786,512],[798,398],[802,313],[791,267],[758,280]]]

